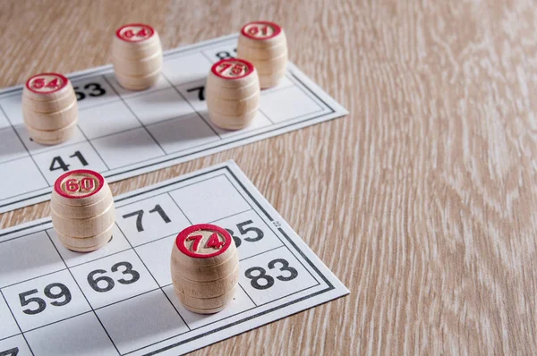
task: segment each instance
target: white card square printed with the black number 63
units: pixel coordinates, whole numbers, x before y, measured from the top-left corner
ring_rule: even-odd
[[[94,309],[158,288],[133,250],[71,268]]]

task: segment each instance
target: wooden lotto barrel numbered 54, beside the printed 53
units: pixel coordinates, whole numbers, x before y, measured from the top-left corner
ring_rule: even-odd
[[[78,103],[71,81],[40,73],[22,89],[22,118],[30,138],[43,145],[69,140],[76,131]]]

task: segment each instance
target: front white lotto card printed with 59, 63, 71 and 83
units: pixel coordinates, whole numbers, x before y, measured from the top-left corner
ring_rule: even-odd
[[[233,161],[115,197],[100,250],[66,250],[49,218],[0,233],[0,355],[177,355],[348,293]],[[170,276],[178,232],[233,235],[240,278],[212,315],[183,308]],[[255,271],[255,272],[254,272]]]

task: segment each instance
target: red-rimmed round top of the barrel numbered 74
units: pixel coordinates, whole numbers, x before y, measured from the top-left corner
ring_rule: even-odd
[[[224,253],[231,242],[231,235],[217,225],[199,224],[184,229],[175,238],[175,245],[185,255],[194,259],[209,259]]]

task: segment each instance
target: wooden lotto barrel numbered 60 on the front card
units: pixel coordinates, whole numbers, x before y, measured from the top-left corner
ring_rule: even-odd
[[[98,250],[112,238],[115,207],[105,178],[79,169],[56,179],[50,199],[52,224],[69,250]]]

